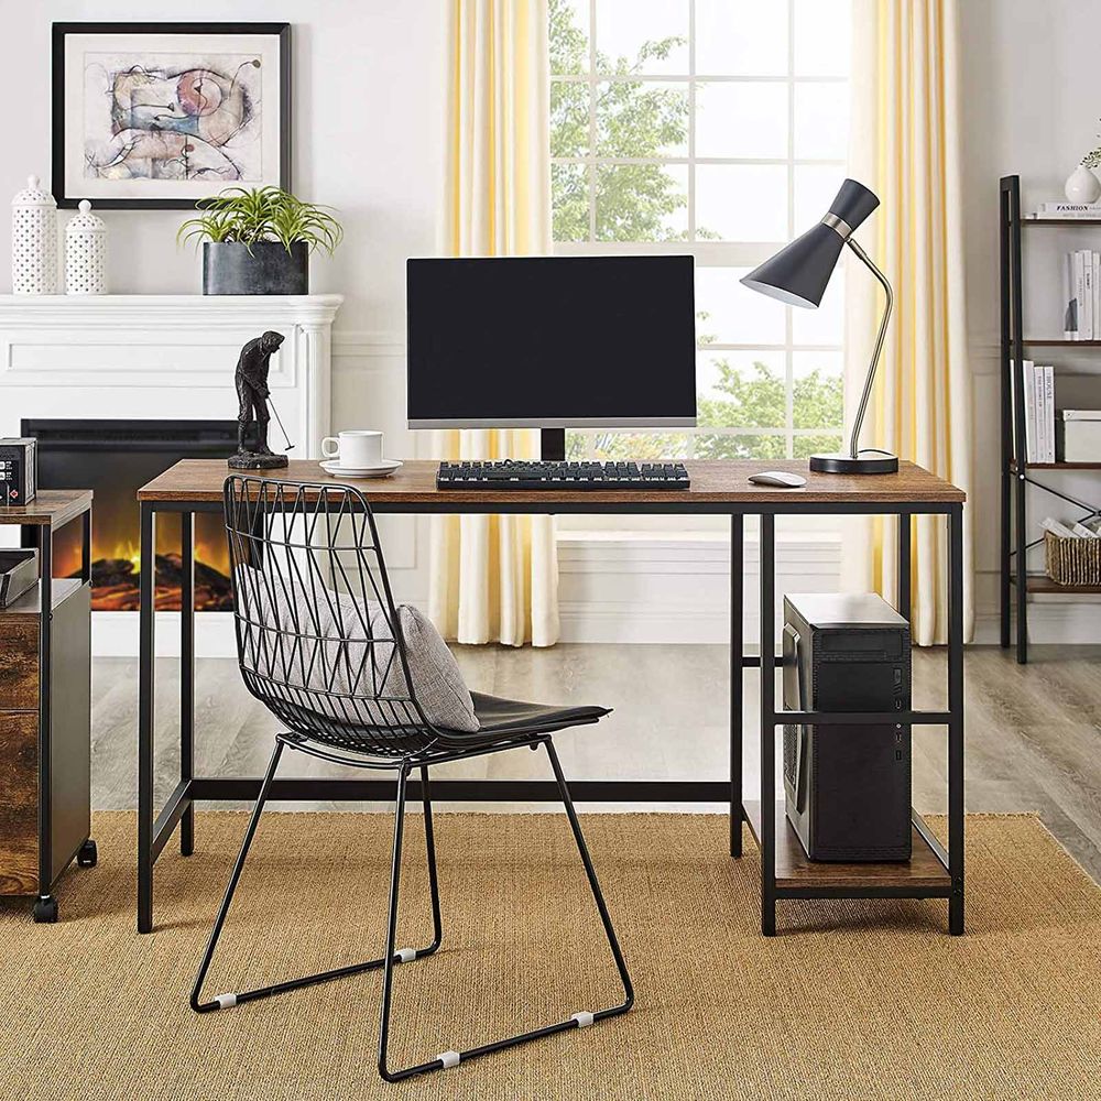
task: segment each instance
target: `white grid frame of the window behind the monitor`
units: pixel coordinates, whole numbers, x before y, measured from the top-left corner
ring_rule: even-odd
[[[807,227],[795,225],[795,173],[803,166],[837,167],[844,172],[843,159],[797,157],[795,155],[795,102],[796,87],[800,84],[848,84],[848,76],[797,76],[795,74],[795,37],[796,37],[796,2],[795,0],[768,0],[768,2],[787,3],[787,74],[784,76],[752,75],[704,75],[696,70],[696,0],[688,3],[688,72],[686,74],[630,74],[617,75],[597,70],[597,6],[601,0],[589,0],[589,64],[588,72],[582,74],[552,74],[552,83],[585,84],[589,87],[589,148],[582,157],[552,157],[552,164],[586,166],[589,206],[589,240],[555,242],[555,255],[597,255],[597,254],[654,254],[654,253],[690,253],[695,257],[697,266],[716,268],[754,268],[773,255],[786,241],[695,241],[696,235],[696,174],[695,165],[702,164],[749,164],[749,165],[783,165],[787,168],[787,240]],[[686,84],[688,87],[688,151],[685,156],[661,157],[602,157],[597,153],[597,88],[599,85],[617,80],[630,80],[641,84]],[[787,150],[784,157],[697,157],[696,156],[696,96],[700,84],[784,84],[787,85]],[[686,165],[688,170],[688,239],[685,241],[658,242],[603,242],[596,240],[597,215],[597,170],[599,165],[617,164],[662,164]],[[781,308],[777,304],[776,308]],[[785,438],[786,454],[792,454],[794,439],[797,436],[820,436],[835,429],[830,428],[795,428],[793,410],[794,358],[797,352],[832,352],[842,351],[840,344],[800,344],[795,341],[794,321],[791,306],[784,309],[783,344],[697,344],[697,353],[707,352],[746,352],[762,351],[783,355],[785,374],[785,424],[782,428],[739,428],[739,427],[701,427],[683,429],[689,437],[689,456],[691,439],[695,435],[708,436],[782,436]],[[839,430],[839,429],[838,429]],[[596,433],[580,430],[591,448]],[[679,430],[678,430],[679,434]],[[571,525],[573,526],[573,525]],[[586,526],[592,526],[591,521]]]

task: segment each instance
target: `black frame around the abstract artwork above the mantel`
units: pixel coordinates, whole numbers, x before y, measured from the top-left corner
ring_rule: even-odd
[[[279,186],[291,190],[291,24],[290,23],[54,23],[52,35],[52,171],[51,185],[58,207],[76,207],[90,198],[101,210],[193,210],[196,199],[135,198],[68,195],[65,189],[65,40],[70,34],[195,34],[271,35],[277,39],[279,77]]]

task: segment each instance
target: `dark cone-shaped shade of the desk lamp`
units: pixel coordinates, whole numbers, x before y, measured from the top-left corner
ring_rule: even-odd
[[[844,238],[879,205],[880,200],[863,184],[846,179],[829,212],[843,221],[848,231],[819,222],[751,271],[742,283],[789,306],[817,307],[837,266]]]

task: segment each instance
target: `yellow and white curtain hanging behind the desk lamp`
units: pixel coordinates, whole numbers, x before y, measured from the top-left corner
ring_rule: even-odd
[[[956,0],[854,0],[850,174],[880,197],[862,242],[895,291],[861,443],[884,447],[970,493],[971,375],[963,303],[959,41]],[[846,279],[846,393],[851,417],[883,306],[853,258]],[[973,630],[970,505],[964,513],[964,629]],[[942,517],[913,521],[913,636],[947,637]],[[848,588],[895,593],[897,525],[854,521]]]

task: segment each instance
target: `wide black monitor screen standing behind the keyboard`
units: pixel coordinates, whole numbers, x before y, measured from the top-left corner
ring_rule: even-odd
[[[691,427],[691,257],[410,260],[408,424]]]

